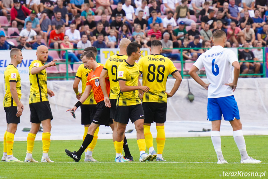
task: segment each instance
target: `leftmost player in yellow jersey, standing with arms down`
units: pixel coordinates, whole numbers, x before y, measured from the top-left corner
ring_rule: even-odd
[[[4,72],[5,80],[5,97],[3,101],[4,110],[6,112],[7,130],[4,134],[4,153],[2,161],[6,162],[22,162],[13,157],[14,135],[17,126],[20,123],[20,116],[24,109],[21,98],[20,74],[16,68],[21,64],[23,59],[20,49],[13,48],[10,51],[11,62],[7,65]]]

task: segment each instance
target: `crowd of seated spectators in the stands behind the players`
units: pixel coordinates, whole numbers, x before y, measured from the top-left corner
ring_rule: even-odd
[[[162,55],[195,61],[206,51],[196,48],[213,46],[216,30],[225,31],[226,47],[268,46],[267,0],[0,0],[0,9],[10,27],[20,29],[8,37],[18,37],[19,45],[8,43],[0,31],[0,49],[46,45],[67,49],[60,55],[71,62],[79,62],[81,49],[117,48],[122,38],[144,48],[161,40]],[[173,48],[191,49],[182,50],[181,57]],[[262,54],[262,49],[239,51],[245,61],[241,73],[262,73]]]

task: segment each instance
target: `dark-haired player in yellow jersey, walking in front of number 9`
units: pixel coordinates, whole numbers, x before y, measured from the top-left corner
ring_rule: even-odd
[[[144,112],[139,97],[139,91],[149,91],[147,86],[138,86],[139,65],[135,63],[141,55],[141,45],[131,42],[126,49],[128,58],[118,66],[117,80],[120,91],[116,102],[115,121],[116,131],[116,162],[124,162],[122,158],[123,134],[129,119],[137,131],[137,143],[140,151],[140,162],[150,160],[151,154],[145,153],[145,139],[143,133]]]

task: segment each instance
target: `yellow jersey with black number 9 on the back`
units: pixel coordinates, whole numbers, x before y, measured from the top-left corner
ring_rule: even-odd
[[[117,82],[117,69],[118,66],[128,58],[127,55],[112,55],[107,59],[103,69],[108,71],[110,79],[110,99],[117,99],[119,93],[119,83]]]

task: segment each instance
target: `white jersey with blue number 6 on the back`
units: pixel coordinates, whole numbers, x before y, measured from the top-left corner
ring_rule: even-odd
[[[206,69],[208,87],[208,98],[219,98],[232,96],[233,90],[225,83],[232,83],[232,63],[238,62],[234,51],[223,48],[220,45],[213,46],[205,53],[201,54],[193,64],[199,70]]]

